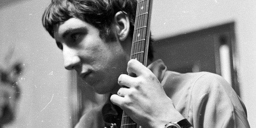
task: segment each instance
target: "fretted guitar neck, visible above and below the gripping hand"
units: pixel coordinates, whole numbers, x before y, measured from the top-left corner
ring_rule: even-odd
[[[136,59],[144,66],[147,65],[148,58],[151,9],[152,0],[138,0],[130,59]],[[121,128],[139,128],[139,126],[123,112]]]

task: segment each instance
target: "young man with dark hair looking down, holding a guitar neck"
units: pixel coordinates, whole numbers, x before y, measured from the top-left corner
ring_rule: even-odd
[[[43,15],[65,68],[76,70],[97,93],[113,94],[77,127],[120,127],[121,109],[144,128],[249,127],[243,103],[222,77],[166,71],[161,60],[148,68],[130,60],[136,5],[136,0],[52,0]]]

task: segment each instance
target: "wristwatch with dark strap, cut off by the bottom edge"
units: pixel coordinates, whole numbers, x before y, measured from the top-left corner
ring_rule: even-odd
[[[169,122],[168,124],[165,125],[164,128],[189,128],[192,126],[190,122],[187,119],[182,119],[181,121],[178,122]]]

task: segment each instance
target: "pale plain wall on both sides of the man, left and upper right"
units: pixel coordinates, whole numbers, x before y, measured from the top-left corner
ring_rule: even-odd
[[[6,0],[4,0],[6,1]],[[13,1],[13,0],[12,0]],[[17,0],[19,1],[19,0]],[[50,0],[21,0],[0,8],[1,60],[11,43],[12,61],[22,60],[18,116],[9,127],[71,127],[70,77],[61,52],[41,23]],[[152,35],[156,40],[225,22],[236,23],[238,79],[248,120],[256,127],[256,2],[250,0],[154,0]]]

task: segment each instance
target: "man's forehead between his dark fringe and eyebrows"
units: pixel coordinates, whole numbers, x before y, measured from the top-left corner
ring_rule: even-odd
[[[61,39],[66,33],[75,29],[95,29],[95,27],[78,18],[70,18],[65,22],[53,26],[54,38]]]

